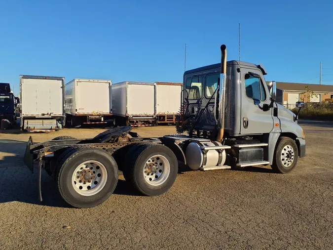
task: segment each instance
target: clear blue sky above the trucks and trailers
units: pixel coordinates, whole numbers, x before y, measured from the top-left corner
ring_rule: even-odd
[[[0,0],[0,82],[19,75],[181,82],[186,69],[261,62],[266,80],[333,84],[330,0]]]

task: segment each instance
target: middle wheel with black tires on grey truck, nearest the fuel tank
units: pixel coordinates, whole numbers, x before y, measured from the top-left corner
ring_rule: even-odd
[[[167,192],[176,180],[178,161],[166,146],[154,143],[134,145],[127,152],[123,175],[144,195]]]

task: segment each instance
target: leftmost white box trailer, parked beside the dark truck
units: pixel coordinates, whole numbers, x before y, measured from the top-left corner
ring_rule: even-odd
[[[65,78],[20,76],[21,129],[53,131],[65,121]]]

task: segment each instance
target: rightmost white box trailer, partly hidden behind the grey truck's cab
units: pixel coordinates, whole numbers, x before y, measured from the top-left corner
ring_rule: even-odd
[[[156,113],[158,123],[175,123],[181,107],[183,83],[156,82]]]

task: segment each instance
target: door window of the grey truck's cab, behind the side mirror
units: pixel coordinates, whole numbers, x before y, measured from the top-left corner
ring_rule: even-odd
[[[251,99],[266,100],[266,92],[261,79],[250,74],[245,74],[245,92]]]

